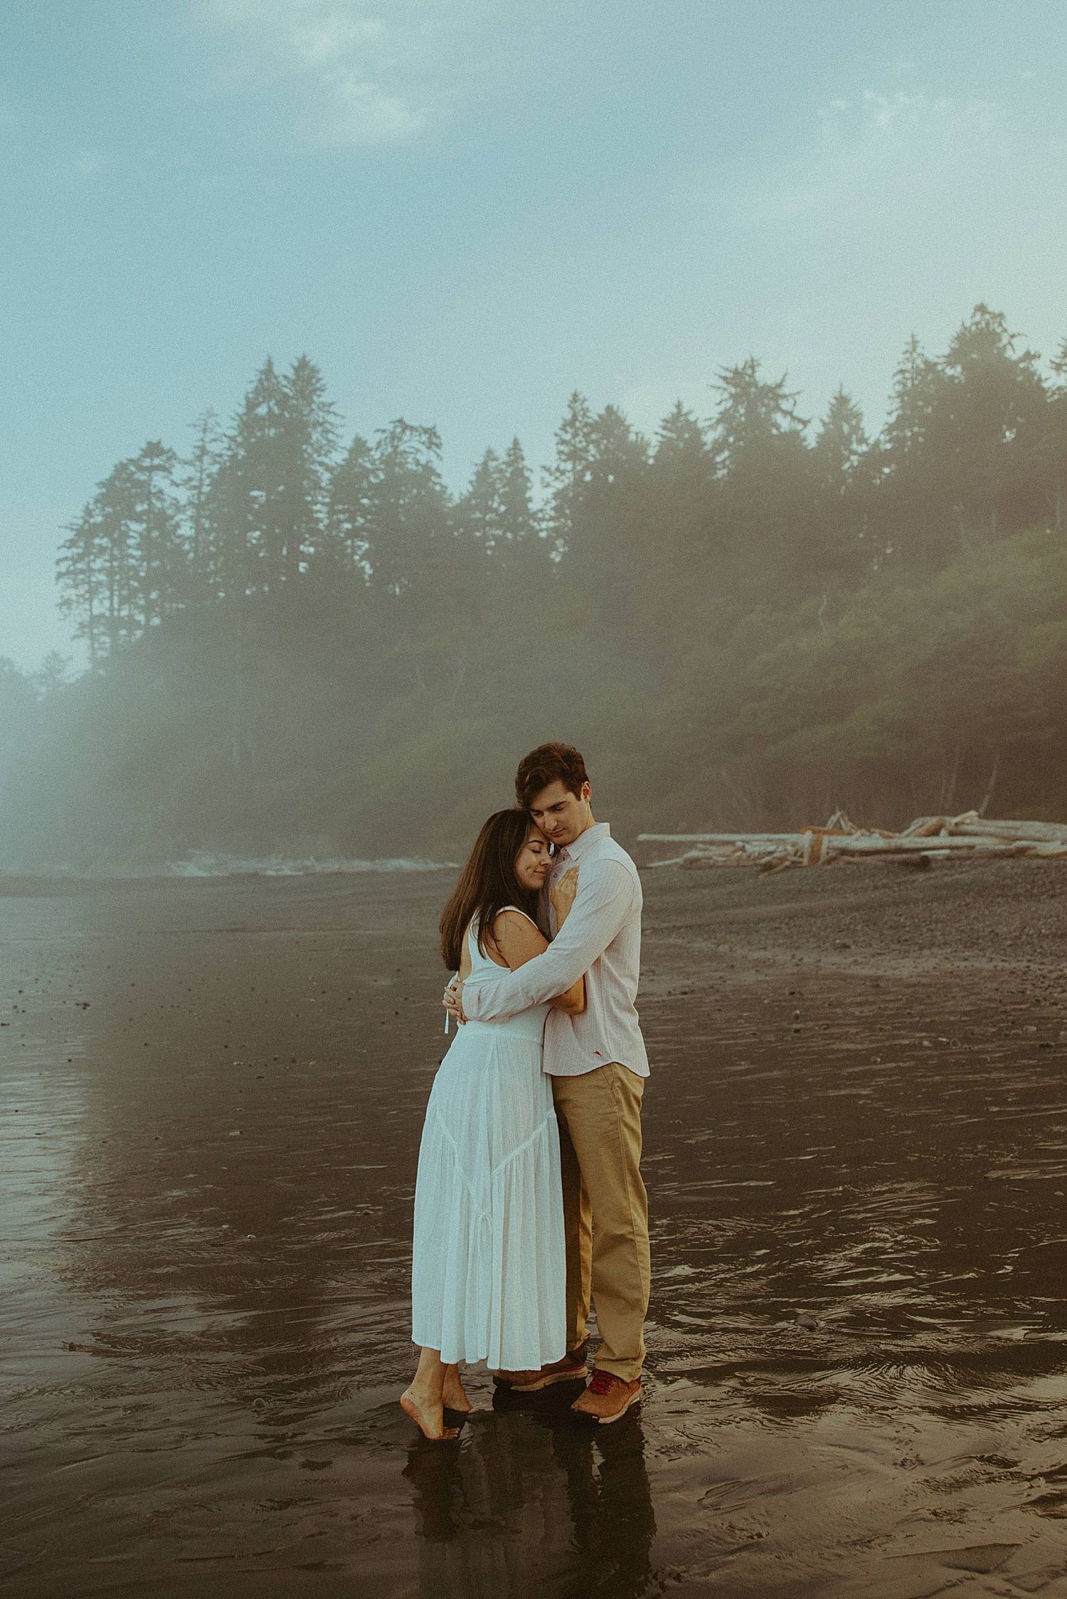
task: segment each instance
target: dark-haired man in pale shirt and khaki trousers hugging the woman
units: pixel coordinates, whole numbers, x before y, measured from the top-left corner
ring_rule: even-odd
[[[649,1308],[649,1201],[641,1178],[641,1099],[649,1057],[634,998],[641,964],[641,879],[593,815],[578,750],[543,744],[519,763],[516,798],[556,847],[540,899],[548,950],[514,972],[454,985],[449,1009],[492,1022],[564,993],[585,974],[581,1015],[551,1011],[545,1071],[559,1119],[567,1239],[567,1354],[540,1372],[506,1374],[516,1393],[583,1377],[589,1292],[601,1348],[573,1410],[617,1422],[641,1399]],[[578,894],[559,937],[551,883],[578,868]]]

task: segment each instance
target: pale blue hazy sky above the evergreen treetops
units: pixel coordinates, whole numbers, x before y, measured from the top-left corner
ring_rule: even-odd
[[[267,355],[460,489],[567,397],[655,433],[756,355],[871,432],[978,301],[1067,334],[1062,0],[6,0],[0,656],[147,438]]]

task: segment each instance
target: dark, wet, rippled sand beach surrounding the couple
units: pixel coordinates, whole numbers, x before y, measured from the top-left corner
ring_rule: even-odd
[[[449,876],[0,883],[0,1591],[1067,1594],[1067,870],[644,881],[644,1406],[454,1445]]]

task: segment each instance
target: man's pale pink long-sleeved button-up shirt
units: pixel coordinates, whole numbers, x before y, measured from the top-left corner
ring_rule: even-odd
[[[549,1011],[545,1022],[545,1071],[577,1078],[617,1060],[639,1078],[649,1076],[641,1036],[637,977],[641,972],[641,878],[607,822],[578,833],[559,851],[549,884],[578,867],[578,897],[559,937],[518,972],[482,977],[463,985],[463,1009],[474,1022],[500,1022],[534,1004],[562,995],[585,972],[581,1015]],[[541,894],[541,931],[556,932],[556,916]]]

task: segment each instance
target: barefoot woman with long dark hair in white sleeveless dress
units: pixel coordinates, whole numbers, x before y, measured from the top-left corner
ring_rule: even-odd
[[[546,948],[534,913],[551,867],[526,811],[482,827],[441,916],[449,971],[514,971]],[[553,887],[567,919],[577,868]],[[585,979],[551,1001],[585,1009]],[[455,1438],[444,1409],[470,1410],[460,1361],[537,1370],[565,1353],[559,1130],[541,1073],[549,1006],[506,1022],[468,1022],[434,1078],[418,1150],[412,1338],[418,1370],[401,1406],[426,1438]]]

